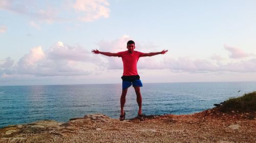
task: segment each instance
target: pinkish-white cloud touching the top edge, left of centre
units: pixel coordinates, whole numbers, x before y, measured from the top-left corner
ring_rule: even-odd
[[[109,2],[106,0],[77,0],[73,8],[82,16],[79,20],[91,22],[101,17],[108,18],[110,15]]]

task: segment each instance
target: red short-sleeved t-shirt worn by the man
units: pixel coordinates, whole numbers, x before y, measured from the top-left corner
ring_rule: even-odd
[[[133,53],[129,53],[129,51],[127,50],[118,52],[117,54],[118,57],[122,57],[123,75],[138,75],[137,62],[144,53],[139,51],[133,51]]]

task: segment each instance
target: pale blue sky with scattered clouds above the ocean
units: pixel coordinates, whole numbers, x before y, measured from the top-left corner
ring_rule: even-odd
[[[0,0],[0,85],[256,81],[256,1]]]

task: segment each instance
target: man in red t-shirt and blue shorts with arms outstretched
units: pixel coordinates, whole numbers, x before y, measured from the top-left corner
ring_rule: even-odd
[[[125,119],[125,112],[123,110],[125,104],[125,96],[127,90],[131,85],[133,85],[136,95],[137,95],[137,103],[139,105],[138,110],[138,117],[142,117],[142,96],[140,93],[140,87],[142,87],[142,82],[140,80],[140,76],[138,75],[137,71],[137,62],[140,57],[142,56],[152,56],[157,54],[164,54],[168,50],[162,50],[161,52],[150,52],[150,53],[143,53],[139,51],[135,51],[135,43],[134,41],[130,40],[127,42],[127,49],[126,51],[118,52],[118,53],[111,53],[111,52],[102,52],[99,50],[92,50],[94,53],[100,53],[107,56],[118,56],[122,58],[123,61],[123,76],[121,77],[122,82],[122,95],[120,98],[121,104],[121,113],[120,113],[120,121]]]

